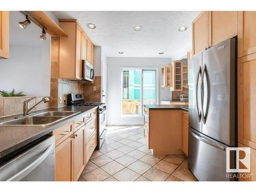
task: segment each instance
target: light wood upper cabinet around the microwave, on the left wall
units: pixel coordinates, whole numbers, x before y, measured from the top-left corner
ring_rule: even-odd
[[[68,35],[60,37],[59,78],[81,80],[82,60],[93,65],[93,44],[76,19],[60,19],[59,26]]]

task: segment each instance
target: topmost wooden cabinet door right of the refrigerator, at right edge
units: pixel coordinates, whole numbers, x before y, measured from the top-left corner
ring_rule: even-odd
[[[256,11],[238,12],[238,57],[256,53]]]

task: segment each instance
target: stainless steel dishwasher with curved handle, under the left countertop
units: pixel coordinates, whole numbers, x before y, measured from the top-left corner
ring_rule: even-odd
[[[30,145],[0,166],[0,181],[55,181],[55,136]]]

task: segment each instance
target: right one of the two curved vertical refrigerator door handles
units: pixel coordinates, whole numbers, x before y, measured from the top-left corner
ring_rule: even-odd
[[[206,114],[207,114],[207,111],[208,111],[208,97],[209,97],[209,93],[208,93],[208,85],[207,85],[207,100],[206,100],[206,111],[205,111],[205,114],[204,114],[204,108],[203,108],[203,105],[204,105],[204,100],[203,100],[203,97],[204,97],[204,94],[203,94],[203,86],[204,86],[204,75],[207,73],[206,71],[206,64],[204,63],[204,67],[203,67],[203,71],[202,71],[202,77],[201,77],[201,113],[202,113],[202,120],[203,120],[203,123],[205,124],[206,123]],[[206,74],[206,81],[208,83],[208,75]]]

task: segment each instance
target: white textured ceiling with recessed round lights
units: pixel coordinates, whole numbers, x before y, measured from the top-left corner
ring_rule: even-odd
[[[198,11],[53,11],[58,18],[76,18],[95,46],[108,57],[178,59],[191,49],[191,22]],[[96,29],[86,25],[93,23]],[[142,31],[134,31],[142,26]],[[187,26],[179,32],[181,26]],[[123,54],[119,54],[123,51]],[[164,52],[159,55],[159,52]]]

